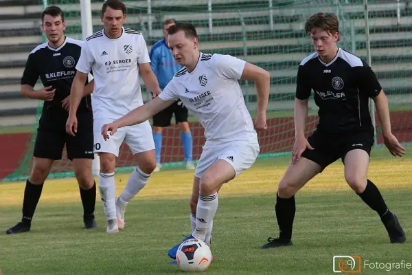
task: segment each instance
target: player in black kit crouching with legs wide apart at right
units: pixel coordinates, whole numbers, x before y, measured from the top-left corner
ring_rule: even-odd
[[[306,21],[316,52],[304,58],[297,72],[295,145],[292,161],[277,188],[275,212],[279,237],[262,248],[292,245],[295,193],[322,170],[341,158],[345,179],[352,190],[375,210],[391,243],[404,243],[405,234],[395,214],[387,208],[375,184],[367,179],[374,126],[369,115],[372,98],[389,152],[402,157],[404,148],[391,133],[387,98],[372,69],[361,58],[339,48],[339,22],[334,14],[317,13]],[[319,124],[306,140],[308,98],[314,91]]]

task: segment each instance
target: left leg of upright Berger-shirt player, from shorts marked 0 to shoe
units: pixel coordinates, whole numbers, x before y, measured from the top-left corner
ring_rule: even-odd
[[[119,232],[116,215],[115,167],[120,145],[126,135],[124,129],[119,129],[108,140],[104,140],[101,133],[102,126],[112,121],[95,118],[93,122],[94,153],[98,153],[100,157],[99,192],[106,214],[108,233]]]

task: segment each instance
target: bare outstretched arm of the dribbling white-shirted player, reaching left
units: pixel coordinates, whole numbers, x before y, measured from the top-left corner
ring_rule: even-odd
[[[133,111],[128,112],[126,115],[122,116],[122,118],[115,120],[115,122],[103,125],[102,135],[104,137],[104,140],[107,140],[109,138],[109,131],[110,135],[114,135],[114,133],[119,128],[145,122],[153,115],[159,113],[159,111],[166,109],[167,107],[172,105],[174,101],[175,100],[163,100],[159,98],[159,96],[157,96],[156,98],[153,98],[153,100],[150,100],[146,104],[137,107]]]

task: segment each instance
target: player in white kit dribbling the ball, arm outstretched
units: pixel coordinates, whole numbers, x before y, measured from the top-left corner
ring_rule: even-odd
[[[205,128],[206,142],[194,173],[192,234],[210,244],[211,226],[218,208],[218,190],[250,168],[260,151],[255,129],[266,129],[270,75],[264,69],[229,55],[202,54],[196,28],[176,23],[168,30],[168,45],[183,66],[161,94],[127,115],[102,127],[104,140],[111,140],[122,127],[146,121],[178,98]],[[238,79],[253,80],[258,91],[255,129],[244,104]],[[183,240],[185,241],[185,240]],[[168,255],[176,259],[180,244]]]

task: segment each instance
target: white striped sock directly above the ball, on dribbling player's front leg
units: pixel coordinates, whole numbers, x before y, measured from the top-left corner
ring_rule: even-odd
[[[203,196],[199,194],[198,205],[196,209],[196,228],[192,236],[205,241],[207,231],[213,223],[214,215],[218,210],[218,193]],[[192,217],[190,218],[192,220]]]

